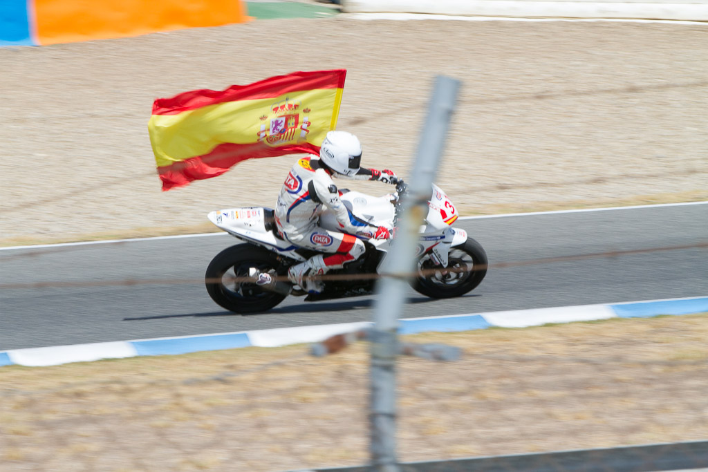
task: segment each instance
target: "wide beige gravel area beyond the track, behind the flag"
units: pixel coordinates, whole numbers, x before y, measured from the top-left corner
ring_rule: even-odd
[[[409,175],[435,74],[464,82],[437,181],[462,214],[708,200],[708,26],[254,21],[0,49],[0,244],[205,231],[295,156],[161,192],[152,101],[348,70],[338,129]],[[370,193],[377,183],[347,185]]]

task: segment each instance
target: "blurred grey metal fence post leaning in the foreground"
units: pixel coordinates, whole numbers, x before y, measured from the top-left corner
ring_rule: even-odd
[[[415,248],[418,228],[423,223],[432,192],[431,185],[445,144],[447,127],[455,108],[459,81],[437,76],[428,116],[421,131],[413,175],[409,182],[410,199],[404,203],[396,239],[384,259],[382,280],[377,287],[375,326],[371,340],[371,464],[375,471],[398,471],[396,465],[396,380],[395,363],[399,353],[396,330],[403,310],[411,273],[416,270]]]

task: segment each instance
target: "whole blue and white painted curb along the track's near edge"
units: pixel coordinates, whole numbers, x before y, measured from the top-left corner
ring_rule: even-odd
[[[547,323],[572,323],[608,318],[648,318],[660,315],[689,315],[708,312],[708,297],[632,301],[617,304],[558,306],[554,308],[492,311],[400,320],[399,333],[469,331],[491,328],[527,328]],[[0,351],[0,366],[30,367],[120,359],[136,356],[176,355],[188,352],[234,349],[237,347],[278,347],[317,343],[332,335],[372,326],[369,322],[297,326],[267,330],[220,333],[178,338],[157,338],[69,346],[32,347]]]

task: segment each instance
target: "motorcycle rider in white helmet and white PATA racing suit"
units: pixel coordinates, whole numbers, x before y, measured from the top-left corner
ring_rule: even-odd
[[[290,282],[309,293],[319,294],[324,284],[319,276],[358,259],[365,251],[360,238],[388,239],[391,231],[356,218],[340,200],[332,178],[378,180],[398,183],[393,171],[363,168],[361,144],[349,132],[330,131],[321,145],[319,156],[300,159],[290,169],[275,206],[278,234],[295,246],[321,253],[304,263],[293,265],[287,272]],[[331,209],[341,233],[319,226],[324,207]]]

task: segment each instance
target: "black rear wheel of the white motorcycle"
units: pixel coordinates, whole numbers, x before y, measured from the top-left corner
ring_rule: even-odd
[[[205,284],[207,292],[219,306],[234,313],[258,313],[279,304],[285,295],[269,292],[251,280],[251,269],[278,276],[278,259],[274,253],[239,244],[218,253],[207,267]]]

